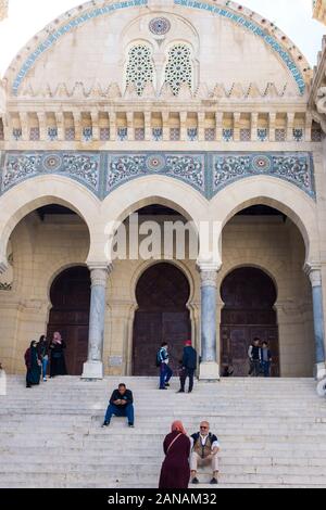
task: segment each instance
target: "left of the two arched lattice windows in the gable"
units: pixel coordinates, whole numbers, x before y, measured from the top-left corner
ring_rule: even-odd
[[[141,95],[147,84],[153,82],[154,64],[152,51],[147,44],[134,46],[128,53],[126,86],[134,85]]]

